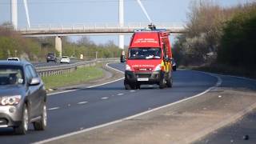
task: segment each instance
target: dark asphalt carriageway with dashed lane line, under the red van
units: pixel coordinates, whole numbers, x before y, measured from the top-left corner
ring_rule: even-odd
[[[110,66],[124,70],[123,64]],[[1,143],[30,143],[53,138],[77,130],[98,126],[120,118],[138,114],[214,86],[217,78],[190,70],[174,73],[173,88],[159,90],[158,86],[142,86],[141,90],[124,90],[123,81],[103,86],[84,88],[48,97],[48,127],[26,135],[14,135],[12,129],[0,130]]]

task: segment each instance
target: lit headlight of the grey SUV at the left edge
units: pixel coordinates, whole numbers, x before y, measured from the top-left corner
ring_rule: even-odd
[[[2,98],[0,98],[0,105],[1,106],[14,106],[14,105],[18,105],[18,103],[21,101],[21,98],[22,98],[21,95],[2,97]]]

